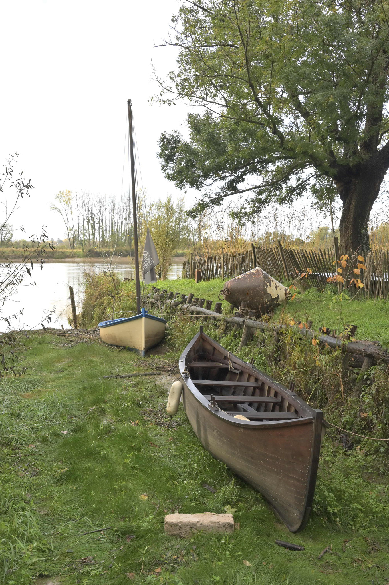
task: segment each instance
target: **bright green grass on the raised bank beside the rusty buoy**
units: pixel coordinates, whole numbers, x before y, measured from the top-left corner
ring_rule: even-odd
[[[204,281],[196,284],[194,280],[159,280],[158,288],[218,301],[218,294],[223,289],[221,279]],[[294,291],[293,291],[294,292]],[[297,291],[298,292],[298,291]],[[214,305],[213,305],[214,306]],[[223,312],[230,312],[231,305],[223,301]],[[296,294],[286,307],[275,311],[272,321],[293,319],[294,321],[313,321],[312,328],[325,326],[329,329],[343,331],[345,325],[357,325],[357,339],[378,340],[385,346],[389,344],[389,302],[385,300],[348,300],[346,295],[339,297],[333,288],[319,291],[308,289],[305,294]]]

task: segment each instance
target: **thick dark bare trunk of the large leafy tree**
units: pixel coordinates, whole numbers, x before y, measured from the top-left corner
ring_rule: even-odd
[[[371,208],[380,192],[384,172],[371,169],[336,181],[339,197],[343,202],[343,210],[339,231],[343,253],[370,250],[368,224]]]

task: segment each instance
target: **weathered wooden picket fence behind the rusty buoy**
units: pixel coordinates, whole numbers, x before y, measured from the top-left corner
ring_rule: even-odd
[[[337,243],[337,242],[336,242]],[[327,284],[327,279],[335,274],[335,258],[339,261],[339,250],[303,250],[284,248],[280,243],[274,247],[251,245],[245,252],[232,254],[222,252],[213,256],[193,256],[183,263],[183,278],[194,278],[196,269],[202,271],[203,280],[223,278],[230,280],[248,270],[259,266],[281,282],[293,281],[301,274],[313,286]],[[358,297],[389,297],[389,251],[374,250],[367,254],[360,270],[363,288],[355,291]],[[305,276],[304,276],[305,277]],[[354,292],[353,292],[354,294]]]

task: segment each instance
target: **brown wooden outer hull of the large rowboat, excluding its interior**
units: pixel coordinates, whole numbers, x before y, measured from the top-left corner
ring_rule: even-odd
[[[199,333],[199,336],[203,338],[203,350],[209,344],[216,353],[225,352],[224,355],[227,355],[228,352],[223,347],[203,333]],[[195,355],[194,340],[181,356],[179,364],[182,373]],[[258,373],[265,376],[236,356],[228,354],[228,359],[233,360],[234,367],[241,366],[246,372],[252,371],[254,375]],[[290,393],[290,400],[305,405],[308,411],[304,414],[308,416],[265,422],[235,419],[223,410],[212,409],[189,376],[183,374],[182,380],[183,406],[204,448],[260,491],[291,532],[303,529],[308,521],[314,496],[322,431],[321,411],[310,409]],[[263,392],[265,390],[264,384]],[[261,391],[262,388],[257,394],[261,395]],[[286,388],[283,391],[289,393]]]

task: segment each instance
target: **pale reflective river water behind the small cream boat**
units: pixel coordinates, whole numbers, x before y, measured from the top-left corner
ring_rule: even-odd
[[[173,264],[168,272],[169,280],[181,277],[183,260],[182,257],[173,258]],[[134,264],[128,263],[127,259],[116,260],[112,266],[121,278],[135,276]],[[27,279],[26,284],[20,286],[18,292],[6,301],[2,307],[2,315],[8,316],[23,311],[22,316],[12,320],[12,329],[40,329],[40,322],[46,311],[55,311],[55,314],[51,315],[51,323],[45,322],[45,326],[60,329],[63,325],[65,329],[70,329],[69,285],[74,288],[79,312],[84,294],[84,271],[93,270],[99,273],[107,269],[107,263],[100,259],[47,260],[42,270],[38,266],[34,267],[32,278]],[[4,331],[5,326],[3,325],[1,329]]]

